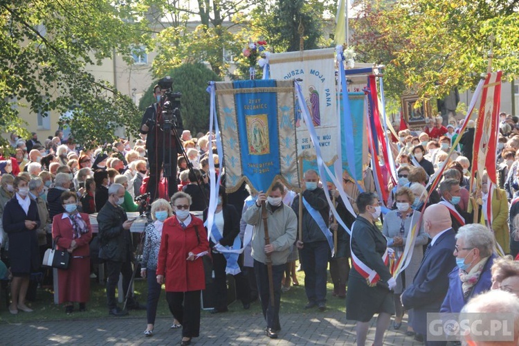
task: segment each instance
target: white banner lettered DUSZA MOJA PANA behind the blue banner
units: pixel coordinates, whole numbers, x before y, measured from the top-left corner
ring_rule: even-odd
[[[303,104],[306,104],[316,128],[322,160],[332,165],[337,159],[338,116],[336,100],[334,48],[302,52],[274,53],[269,56],[271,78],[301,79]],[[311,142],[299,104],[295,105],[295,128],[298,134],[298,154],[304,158],[304,170],[316,169],[316,149]]]

